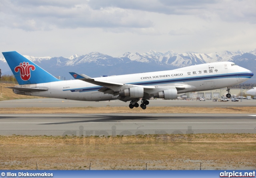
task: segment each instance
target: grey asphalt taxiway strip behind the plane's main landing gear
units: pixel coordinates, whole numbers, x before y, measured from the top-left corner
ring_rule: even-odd
[[[188,107],[230,107],[230,106],[256,106],[256,100],[239,100],[239,102],[212,102],[212,100],[149,100],[149,105],[152,106],[188,106]],[[140,101],[138,102],[140,104]],[[55,98],[39,98],[39,99],[21,99],[21,100],[6,100],[0,101],[0,108],[22,108],[22,107],[118,107],[127,106],[129,102],[120,100],[101,101],[101,102],[86,102],[74,100],[62,100]]]

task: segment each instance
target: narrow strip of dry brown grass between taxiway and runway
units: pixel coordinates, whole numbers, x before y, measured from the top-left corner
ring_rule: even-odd
[[[194,108],[194,107],[81,107],[81,108],[2,108],[0,113],[256,113],[256,107]]]

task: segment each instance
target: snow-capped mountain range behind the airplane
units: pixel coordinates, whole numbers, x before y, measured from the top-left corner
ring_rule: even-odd
[[[195,52],[178,54],[174,51],[160,53],[150,50],[142,54],[126,52],[119,57],[112,57],[98,52],[73,55],[69,58],[32,57],[27,55],[24,55],[24,57],[54,76],[63,76],[66,79],[72,78],[68,74],[70,71],[96,77],[100,75],[172,70],[174,68],[220,61],[232,61],[256,73],[256,49],[248,53],[243,51],[222,51],[210,54]],[[3,57],[0,58],[0,68],[2,69],[2,74],[11,74],[10,68]]]

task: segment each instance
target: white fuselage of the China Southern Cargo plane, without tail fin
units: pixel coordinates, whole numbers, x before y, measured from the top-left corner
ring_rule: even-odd
[[[173,86],[186,84],[186,88],[178,93],[196,92],[224,88],[242,83],[253,76],[250,70],[239,67],[231,62],[206,63],[190,67],[178,68],[159,72],[146,72],[94,78],[98,80],[122,84]],[[26,87],[43,87],[47,91],[22,92],[14,90],[17,94],[44,96],[82,101],[115,100],[117,96],[98,92],[102,86],[97,86],[82,80],[65,80],[41,84],[30,84]]]

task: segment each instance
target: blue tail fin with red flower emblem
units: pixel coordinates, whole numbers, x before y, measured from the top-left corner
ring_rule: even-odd
[[[16,51],[2,53],[20,85],[60,81]]]

